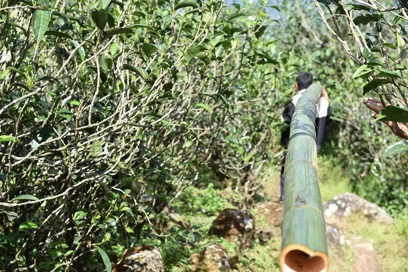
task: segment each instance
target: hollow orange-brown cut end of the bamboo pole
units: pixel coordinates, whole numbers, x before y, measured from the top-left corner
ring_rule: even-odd
[[[285,246],[279,258],[281,272],[327,272],[328,256],[301,244]]]

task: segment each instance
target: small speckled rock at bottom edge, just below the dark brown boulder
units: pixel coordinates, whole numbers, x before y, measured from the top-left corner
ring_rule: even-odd
[[[231,269],[230,258],[220,244],[209,245],[203,254],[206,271],[228,271]]]

